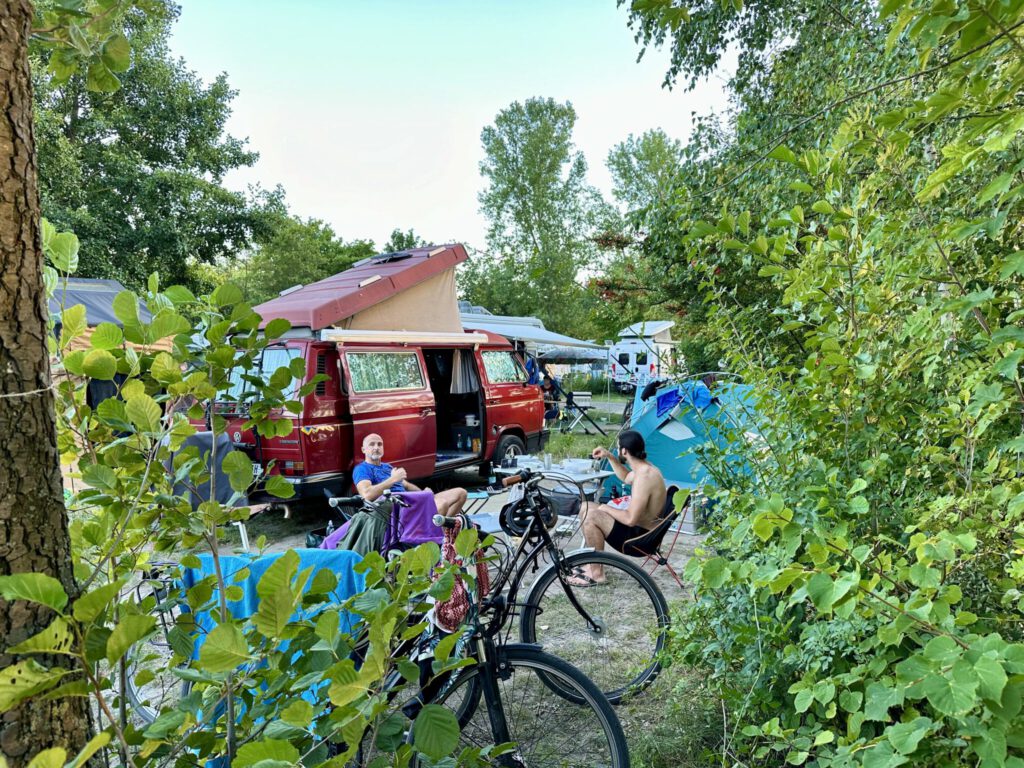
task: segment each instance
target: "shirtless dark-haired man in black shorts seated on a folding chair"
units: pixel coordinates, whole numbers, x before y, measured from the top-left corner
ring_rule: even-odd
[[[595,459],[607,459],[615,476],[632,487],[632,495],[608,504],[588,502],[584,511],[583,536],[588,547],[603,550],[605,544],[622,551],[623,545],[650,530],[665,510],[668,490],[665,477],[647,461],[643,437],[626,429],[618,433],[618,457],[606,449],[595,449]],[[627,468],[625,465],[629,465]],[[604,568],[589,565],[569,580],[574,587],[592,587],[604,582]]]

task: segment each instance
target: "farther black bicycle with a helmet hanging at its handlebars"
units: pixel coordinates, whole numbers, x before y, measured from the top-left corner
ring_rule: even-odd
[[[569,495],[544,485],[571,483]],[[669,605],[653,579],[626,557],[583,549],[564,553],[551,528],[559,514],[583,514],[583,492],[557,473],[531,472],[503,480],[520,485],[518,498],[502,510],[502,528],[518,545],[497,571],[489,601],[501,602],[503,623],[519,615],[519,639],[539,643],[593,680],[612,703],[649,685],[660,672]],[[567,498],[568,497],[568,498]],[[590,573],[603,571],[593,583]],[[531,572],[537,579],[520,601]],[[489,607],[489,606],[488,606]]]

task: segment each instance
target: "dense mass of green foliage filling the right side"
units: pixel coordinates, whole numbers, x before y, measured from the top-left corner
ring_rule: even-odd
[[[715,6],[674,36],[633,5],[677,46],[792,36],[645,212],[649,295],[699,314],[763,417],[749,478],[709,457],[676,655],[730,760],[1020,765],[1024,4],[844,6],[836,36],[805,24],[831,4]]]

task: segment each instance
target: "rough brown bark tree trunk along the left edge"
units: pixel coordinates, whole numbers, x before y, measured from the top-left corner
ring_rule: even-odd
[[[74,598],[49,389],[28,55],[32,17],[29,0],[0,0],[0,573],[47,573]],[[6,648],[52,618],[48,608],[0,598],[0,669],[16,660]],[[89,729],[87,699],[30,699],[0,716],[0,755],[12,768],[49,746],[73,757]]]

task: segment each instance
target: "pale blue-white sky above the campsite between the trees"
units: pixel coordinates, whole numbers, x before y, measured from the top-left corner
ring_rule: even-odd
[[[660,87],[614,0],[180,0],[173,51],[239,93],[228,131],[260,154],[227,186],[284,185],[292,213],[383,246],[394,227],[483,248],[481,129],[531,96],[569,100],[589,180],[610,200],[608,151],[691,113],[722,84]]]

